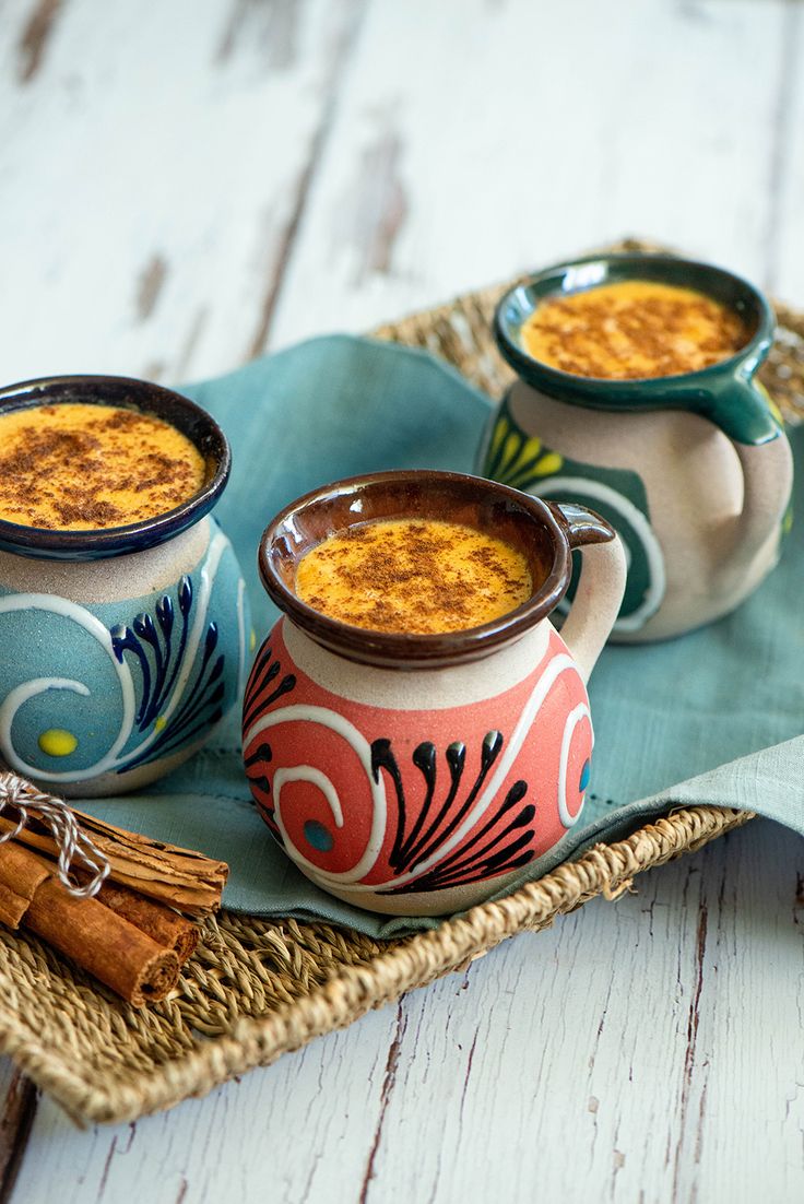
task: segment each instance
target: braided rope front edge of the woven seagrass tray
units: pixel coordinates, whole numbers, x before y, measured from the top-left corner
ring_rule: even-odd
[[[119,1123],[200,1097],[235,1075],[268,1066],[315,1037],[344,1028],[367,1011],[392,1003],[406,991],[426,986],[465,968],[474,957],[524,929],[549,927],[596,896],[617,898],[633,878],[752,819],[721,807],[684,808],[611,845],[598,844],[575,862],[560,866],[504,899],[473,908],[439,928],[392,944],[366,966],[348,967],[309,996],[267,1016],[242,1019],[231,1034],[218,1037],[159,1075],[126,1075],[105,1087],[59,1066],[22,1026],[10,1025],[0,1052],[11,1055],[39,1087],[49,1092],[78,1125]]]

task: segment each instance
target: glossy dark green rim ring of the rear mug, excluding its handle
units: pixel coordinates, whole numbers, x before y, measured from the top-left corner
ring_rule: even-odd
[[[697,372],[666,377],[613,379],[583,377],[543,364],[525,348],[522,327],[537,306],[546,297],[568,296],[603,284],[625,281],[652,281],[678,288],[694,289],[734,311],[744,323],[749,337],[731,356]],[[773,341],[774,315],[762,293],[752,284],[722,267],[674,255],[592,255],[587,259],[558,264],[538,272],[516,285],[502,299],[495,313],[495,335],[503,356],[510,366],[532,383],[550,386],[563,383],[575,391],[628,396],[651,389],[668,389],[676,382],[694,383],[705,374],[732,372],[735,366],[751,360],[751,370],[768,353]]]

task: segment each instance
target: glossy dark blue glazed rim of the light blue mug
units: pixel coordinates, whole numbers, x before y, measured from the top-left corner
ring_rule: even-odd
[[[100,531],[53,531],[0,519],[0,549],[46,560],[100,560],[143,551],[193,526],[218,501],[231,470],[229,442],[215,420],[189,397],[148,380],[113,376],[42,377],[0,389],[0,415],[12,409],[65,402],[120,406],[170,423],[203,456],[205,483],[175,509],[128,526]]]

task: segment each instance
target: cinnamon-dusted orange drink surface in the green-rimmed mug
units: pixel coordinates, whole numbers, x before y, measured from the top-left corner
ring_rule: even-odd
[[[734,355],[747,338],[743,320],[727,306],[655,281],[546,297],[522,326],[525,349],[534,360],[611,380],[698,372]]]

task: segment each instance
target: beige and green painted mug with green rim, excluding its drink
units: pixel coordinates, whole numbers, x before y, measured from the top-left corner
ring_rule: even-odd
[[[713,297],[740,317],[747,342],[697,372],[628,380],[574,376],[528,355],[522,327],[540,301],[625,281]],[[774,567],[792,455],[755,379],[773,332],[770,307],[751,284],[666,255],[563,264],[499,302],[495,335],[519,379],[486,431],[479,471],[540,497],[583,502],[611,523],[628,557],[613,638],[661,639],[709,622]]]

